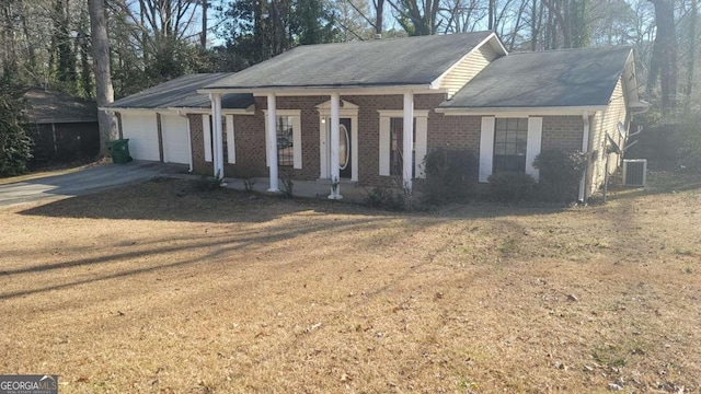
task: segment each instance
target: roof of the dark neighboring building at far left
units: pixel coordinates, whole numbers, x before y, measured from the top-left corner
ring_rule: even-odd
[[[27,102],[26,116],[34,124],[97,121],[95,102],[39,88],[30,89],[24,97]]]

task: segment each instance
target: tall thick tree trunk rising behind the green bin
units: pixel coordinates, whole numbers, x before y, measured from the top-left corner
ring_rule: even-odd
[[[90,10],[90,32],[92,37],[92,59],[95,72],[97,106],[103,107],[114,102],[112,74],[110,71],[110,40],[107,38],[107,20],[104,0],[88,0]],[[117,137],[117,124],[114,115],[100,111],[100,154],[107,152],[107,141]]]

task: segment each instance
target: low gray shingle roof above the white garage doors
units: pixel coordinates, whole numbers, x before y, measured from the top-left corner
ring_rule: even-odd
[[[107,105],[113,108],[208,108],[209,97],[197,90],[208,83],[232,76],[232,73],[198,73],[176,78],[142,92],[119,99]],[[246,108],[253,104],[252,94],[226,94],[221,107],[227,109]]]

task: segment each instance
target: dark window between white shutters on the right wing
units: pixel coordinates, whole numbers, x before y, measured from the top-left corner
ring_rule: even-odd
[[[493,173],[525,173],[527,140],[528,118],[497,118]]]

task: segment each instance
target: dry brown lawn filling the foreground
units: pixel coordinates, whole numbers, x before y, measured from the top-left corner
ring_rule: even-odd
[[[700,393],[699,185],[394,215],[160,179],[0,210],[0,373],[61,393]]]

